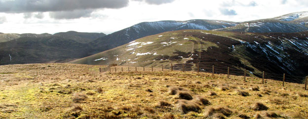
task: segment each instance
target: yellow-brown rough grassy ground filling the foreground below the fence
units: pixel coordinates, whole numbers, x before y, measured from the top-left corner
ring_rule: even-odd
[[[255,102],[279,111],[282,119],[296,119],[294,112],[308,118],[308,97],[298,94],[308,94],[303,84],[286,83],[282,87],[281,82],[273,80],[262,84],[262,79],[254,77],[244,82],[241,76],[228,79],[224,74],[181,71],[99,73],[98,67],[62,63],[0,66],[0,119],[204,119],[211,118],[205,117],[208,107],[220,106],[233,110],[228,119],[239,114],[253,119],[262,114],[252,109]],[[168,93],[169,86],[189,89],[193,98],[203,96],[211,104],[201,105],[200,112],[183,114],[175,103],[177,95]],[[251,89],[256,87],[260,91]],[[241,96],[236,90],[246,91],[249,96]],[[208,91],[217,95],[210,96]],[[75,93],[86,94],[87,98],[76,102]],[[159,107],[160,101],[171,105]],[[82,109],[76,109],[76,104]]]

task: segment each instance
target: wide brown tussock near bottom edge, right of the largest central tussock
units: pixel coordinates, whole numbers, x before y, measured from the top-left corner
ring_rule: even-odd
[[[208,107],[204,113],[206,117],[213,116],[214,114],[222,114],[229,117],[233,111],[227,107]]]

